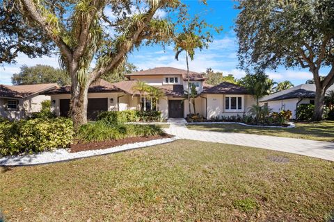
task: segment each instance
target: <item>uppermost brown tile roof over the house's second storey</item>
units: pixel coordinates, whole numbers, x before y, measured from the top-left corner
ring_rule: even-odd
[[[190,74],[190,80],[191,81],[204,81],[205,78],[202,74],[195,72],[195,71],[189,71]],[[147,69],[143,71],[136,71],[132,74],[127,74],[125,76],[182,76],[184,80],[188,80],[186,70],[184,69],[177,69],[173,67],[157,67],[154,69]]]

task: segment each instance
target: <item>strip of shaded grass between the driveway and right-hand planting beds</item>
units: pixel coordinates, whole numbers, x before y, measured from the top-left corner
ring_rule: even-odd
[[[334,121],[296,123],[295,128],[262,128],[239,124],[198,124],[188,125],[191,130],[212,130],[216,132],[249,133],[276,137],[291,137],[334,142]]]

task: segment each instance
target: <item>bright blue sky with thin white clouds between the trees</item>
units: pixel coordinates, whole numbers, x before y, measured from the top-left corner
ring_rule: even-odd
[[[233,74],[236,78],[242,78],[244,71],[237,69],[237,38],[233,31],[234,20],[237,18],[238,10],[234,9],[234,2],[229,0],[207,0],[207,6],[199,3],[198,0],[184,1],[189,5],[191,14],[198,14],[205,18],[209,24],[223,26],[221,33],[214,33],[214,42],[209,44],[208,49],[196,51],[195,58],[189,62],[191,71],[204,72],[207,68],[214,71],[222,71],[223,75]],[[166,17],[166,13],[159,12],[160,17]],[[177,16],[177,15],[171,15]],[[186,69],[185,54],[181,54],[179,60],[175,60],[173,46],[141,46],[135,49],[128,56],[138,69],[151,69],[154,67],[176,67]],[[30,59],[23,54],[19,54],[17,64],[4,65],[0,67],[0,83],[11,85],[10,77],[19,72],[22,65],[33,66],[37,64],[51,65],[58,67],[58,56]],[[326,75],[328,69],[322,69],[321,74]],[[290,80],[294,85],[305,83],[312,78],[308,69],[285,69],[279,67],[276,71],[267,70],[266,73],[276,82]]]

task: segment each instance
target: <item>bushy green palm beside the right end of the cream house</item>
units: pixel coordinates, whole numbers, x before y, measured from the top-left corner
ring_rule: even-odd
[[[248,89],[249,94],[256,100],[257,106],[263,96],[271,94],[273,85],[275,84],[275,82],[263,72],[246,74],[246,76],[239,80],[239,83]]]

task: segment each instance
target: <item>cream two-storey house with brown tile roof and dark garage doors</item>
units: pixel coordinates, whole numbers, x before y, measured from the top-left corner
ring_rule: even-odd
[[[186,70],[159,67],[128,74],[126,77],[128,80],[119,83],[98,80],[89,87],[88,119],[95,119],[102,110],[138,110],[140,107],[143,110],[160,110],[166,119],[182,118],[189,114],[188,102],[184,101],[184,90],[188,83]],[[145,96],[140,101],[139,92],[132,90],[137,80],[145,81],[164,92],[164,96],[157,101],[157,107],[152,107],[154,103]],[[242,115],[254,103],[244,87],[225,82],[212,86],[207,85],[205,80],[202,74],[190,71],[190,83],[198,89],[196,112],[208,119]],[[58,116],[67,116],[70,110],[70,87],[58,87],[46,94],[51,96],[54,112]]]

